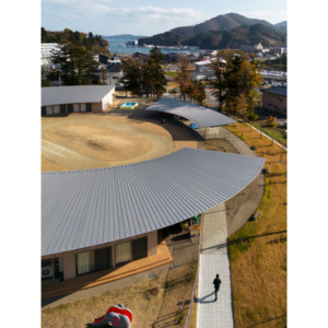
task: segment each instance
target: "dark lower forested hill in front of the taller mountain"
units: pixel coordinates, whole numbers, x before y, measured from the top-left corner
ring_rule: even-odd
[[[183,36],[166,32],[148,38],[140,38],[139,44],[154,46],[199,46],[201,49],[238,49],[242,44],[282,46],[286,36],[262,24],[245,25],[227,31],[206,31],[196,36]]]

